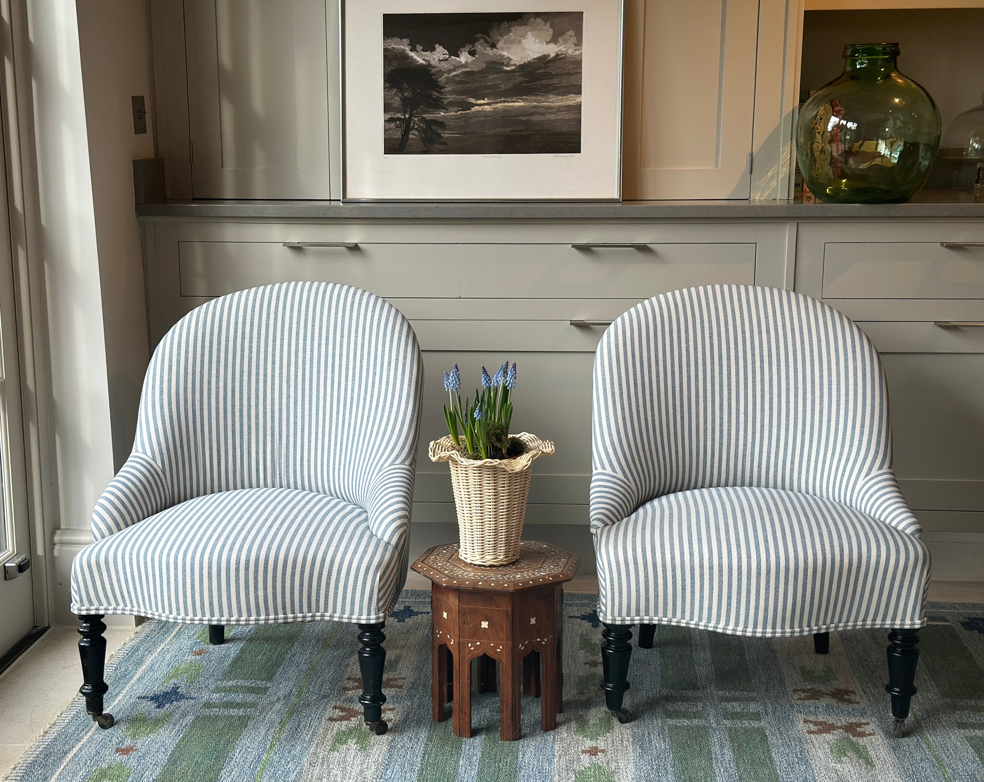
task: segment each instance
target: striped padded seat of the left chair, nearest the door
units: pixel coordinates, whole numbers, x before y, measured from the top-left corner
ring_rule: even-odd
[[[385,620],[405,576],[366,511],[322,494],[242,489],[198,497],[87,546],[76,614],[250,625]]]

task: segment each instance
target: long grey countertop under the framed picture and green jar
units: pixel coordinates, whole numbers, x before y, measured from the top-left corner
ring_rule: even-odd
[[[984,197],[952,188],[924,188],[905,204],[802,204],[794,201],[623,201],[341,203],[338,201],[169,201],[138,204],[141,218],[425,219],[425,220],[679,220],[982,217]]]

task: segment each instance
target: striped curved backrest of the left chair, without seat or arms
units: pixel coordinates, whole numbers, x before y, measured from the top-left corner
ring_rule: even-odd
[[[412,467],[422,368],[410,325],[347,285],[287,282],[222,296],[160,341],[135,453],[169,504],[250,488],[366,507],[372,477]]]

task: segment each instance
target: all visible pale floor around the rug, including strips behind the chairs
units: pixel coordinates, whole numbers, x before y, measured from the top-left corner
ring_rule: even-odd
[[[415,572],[406,578],[408,589],[429,589],[430,581]],[[565,591],[596,592],[597,578],[577,575]],[[934,581],[929,599],[953,603],[984,603],[984,582]],[[106,631],[112,654],[135,629]],[[73,628],[46,632],[31,650],[0,676],[0,779],[58,716],[79,690],[79,635]]]

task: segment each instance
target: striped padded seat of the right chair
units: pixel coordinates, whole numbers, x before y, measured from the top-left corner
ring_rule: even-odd
[[[838,503],[751,487],[652,500],[595,531],[607,624],[742,635],[918,628],[930,573],[914,535]]]

